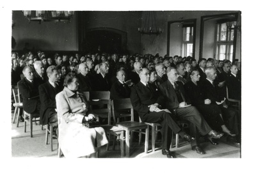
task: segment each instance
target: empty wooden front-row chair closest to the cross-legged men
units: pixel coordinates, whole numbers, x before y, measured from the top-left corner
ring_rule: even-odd
[[[134,112],[131,104],[131,99],[130,98],[115,99],[115,100],[112,100],[111,104],[112,104],[114,118],[115,118],[115,110],[118,110],[118,111],[122,109],[131,110],[131,119],[129,121],[116,123],[116,126],[125,130],[125,156],[126,157],[130,156],[129,149],[130,149],[130,141],[132,142],[132,135],[133,135],[132,132],[139,132],[139,133],[145,134],[145,153],[146,153],[148,150],[148,125],[146,125],[145,123],[134,121]],[[145,129],[145,132],[141,131],[143,129]],[[130,139],[130,132],[131,132],[131,139]]]

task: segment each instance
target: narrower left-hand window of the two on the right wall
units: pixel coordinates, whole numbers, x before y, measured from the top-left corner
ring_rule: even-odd
[[[182,56],[193,56],[193,27],[183,27]]]

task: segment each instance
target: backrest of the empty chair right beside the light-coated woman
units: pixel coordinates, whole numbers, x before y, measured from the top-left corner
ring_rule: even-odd
[[[88,100],[93,114],[97,114],[102,122],[108,119],[108,125],[110,125],[111,118],[111,102],[109,98],[109,91],[90,91]]]

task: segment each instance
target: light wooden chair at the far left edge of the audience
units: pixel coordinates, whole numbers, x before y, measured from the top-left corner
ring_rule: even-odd
[[[13,93],[13,98],[15,102],[13,103],[13,107],[15,107],[15,109],[14,109],[12,123],[15,123],[15,119],[17,118],[17,127],[19,127],[20,109],[23,108],[23,104],[22,102],[20,102],[20,91],[18,86],[12,86],[12,93]]]

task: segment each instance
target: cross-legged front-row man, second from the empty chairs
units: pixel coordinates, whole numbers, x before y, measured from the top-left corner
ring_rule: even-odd
[[[191,123],[191,135],[195,136],[195,141],[191,142],[192,150],[198,154],[205,154],[205,151],[198,145],[199,135],[207,135],[207,139],[214,144],[212,139],[219,139],[223,133],[212,130],[204,117],[198,110],[189,105],[188,96],[186,96],[183,85],[178,81],[177,70],[170,67],[166,70],[168,80],[159,86],[161,95],[164,96],[164,107],[169,109],[177,118],[187,120]],[[188,106],[189,105],[189,106]]]

